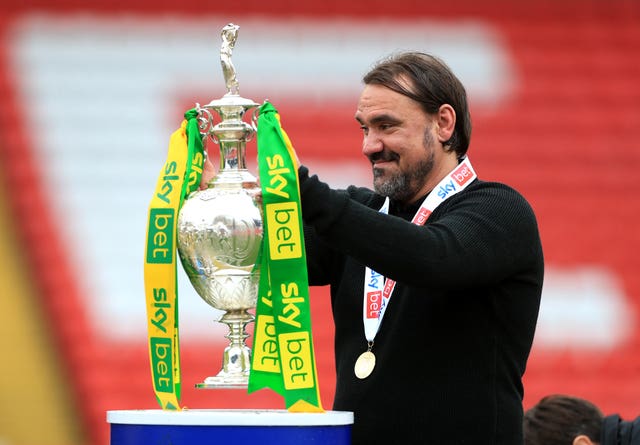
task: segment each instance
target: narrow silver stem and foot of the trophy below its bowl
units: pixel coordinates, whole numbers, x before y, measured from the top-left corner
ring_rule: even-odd
[[[204,382],[196,384],[196,388],[244,389],[248,386],[251,349],[245,344],[249,337],[245,328],[253,318],[246,309],[228,311],[220,318],[219,321],[229,327],[229,333],[225,336],[229,339],[229,346],[225,348],[222,356],[222,369],[218,375],[207,377]]]

